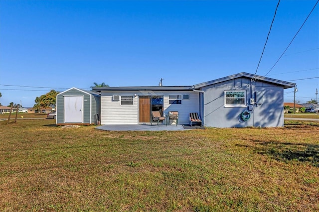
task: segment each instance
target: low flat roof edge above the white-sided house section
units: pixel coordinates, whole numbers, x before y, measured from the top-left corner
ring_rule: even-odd
[[[93,91],[189,91],[191,86],[93,87]]]

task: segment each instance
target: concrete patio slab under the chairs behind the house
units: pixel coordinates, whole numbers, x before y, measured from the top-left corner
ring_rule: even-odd
[[[191,130],[191,129],[205,129],[202,126],[189,126],[189,125],[181,125],[175,124],[171,125],[156,125],[156,124],[112,124],[112,125],[102,125],[96,127],[101,130],[108,131],[182,131],[182,130]]]

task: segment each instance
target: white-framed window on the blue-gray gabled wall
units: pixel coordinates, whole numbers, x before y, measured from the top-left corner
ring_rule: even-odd
[[[246,106],[246,91],[224,91],[225,106]]]

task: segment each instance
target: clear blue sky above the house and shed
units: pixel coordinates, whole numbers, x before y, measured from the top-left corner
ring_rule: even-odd
[[[281,0],[257,75],[265,76],[317,0]],[[94,82],[194,85],[254,74],[278,0],[0,0],[0,103]],[[319,5],[267,77],[319,89]],[[305,78],[314,78],[300,80]],[[285,102],[293,102],[293,89]]]

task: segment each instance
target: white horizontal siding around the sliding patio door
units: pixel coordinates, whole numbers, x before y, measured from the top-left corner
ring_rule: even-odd
[[[181,104],[169,104],[169,95],[187,94],[189,99],[181,100]],[[121,101],[112,100],[113,95],[133,96],[133,105],[121,105]],[[189,123],[190,112],[199,113],[198,92],[101,92],[101,124],[139,124],[139,96],[163,96],[164,113],[178,111],[178,123],[180,124]]]

